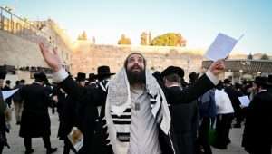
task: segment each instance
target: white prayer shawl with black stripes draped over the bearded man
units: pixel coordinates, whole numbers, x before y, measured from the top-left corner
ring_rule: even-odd
[[[160,129],[166,134],[170,130],[170,111],[163,91],[151,72],[146,71],[146,91],[151,97],[151,112]],[[109,83],[105,107],[109,140],[113,152],[126,154],[129,149],[131,123],[131,91],[124,68]],[[120,125],[118,123],[121,123]],[[127,136],[118,137],[119,134]]]

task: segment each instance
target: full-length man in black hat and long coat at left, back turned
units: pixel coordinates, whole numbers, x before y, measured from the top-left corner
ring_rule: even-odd
[[[48,114],[50,99],[43,86],[44,74],[35,73],[34,78],[34,83],[25,85],[22,91],[20,91],[21,97],[24,100],[24,111],[22,112],[19,136],[24,138],[25,154],[34,152],[31,138],[40,137],[44,140],[44,147],[47,154],[50,154],[57,150],[51,147],[50,142],[51,131]]]

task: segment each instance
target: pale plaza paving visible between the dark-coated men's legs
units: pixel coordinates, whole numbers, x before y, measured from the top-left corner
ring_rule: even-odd
[[[51,142],[53,147],[57,147],[58,151],[54,154],[63,153],[63,141],[57,139],[57,130],[59,126],[58,115],[51,114]],[[15,116],[13,115],[13,120],[11,122],[12,130],[7,134],[8,142],[11,146],[11,149],[4,149],[3,154],[24,154],[24,142],[23,138],[18,136],[19,126],[15,125]],[[227,150],[213,149],[213,154],[247,154],[244,149],[241,148],[241,137],[242,129],[231,129],[230,138],[231,144],[228,146]],[[33,139],[33,149],[34,154],[45,154],[44,142],[42,138]],[[73,153],[73,152],[71,152]]]

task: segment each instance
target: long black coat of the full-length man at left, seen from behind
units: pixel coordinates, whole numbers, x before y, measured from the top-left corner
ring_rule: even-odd
[[[20,127],[21,137],[43,137],[50,135],[48,107],[50,98],[43,85],[25,85],[20,91],[24,100],[24,110]]]

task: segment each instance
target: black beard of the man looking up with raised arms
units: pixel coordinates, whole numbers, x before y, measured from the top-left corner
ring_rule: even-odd
[[[133,84],[145,84],[145,71],[132,72],[131,70],[126,70],[128,81],[131,85]]]

